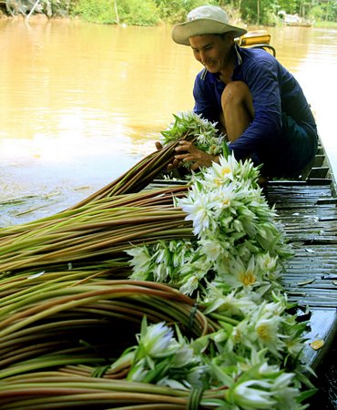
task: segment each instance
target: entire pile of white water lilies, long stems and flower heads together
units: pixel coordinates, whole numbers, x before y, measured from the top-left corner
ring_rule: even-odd
[[[307,323],[259,169],[192,112],[162,134],[87,200],[0,232],[2,408],[306,408]],[[180,138],[219,163],[144,191]]]

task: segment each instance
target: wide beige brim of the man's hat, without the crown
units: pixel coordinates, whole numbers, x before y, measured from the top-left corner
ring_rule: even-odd
[[[229,32],[233,33],[234,37],[240,37],[245,35],[247,30],[227,25],[221,21],[210,20],[209,18],[199,18],[174,26],[172,30],[172,39],[178,44],[190,46],[189,37]]]

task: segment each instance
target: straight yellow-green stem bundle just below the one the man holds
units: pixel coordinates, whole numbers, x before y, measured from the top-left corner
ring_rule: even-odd
[[[5,230],[0,239],[0,272],[109,267],[110,260],[126,259],[137,244],[189,237],[185,213],[174,208],[172,195],[186,187],[94,200],[45,220]],[[114,263],[116,266],[116,263]]]

